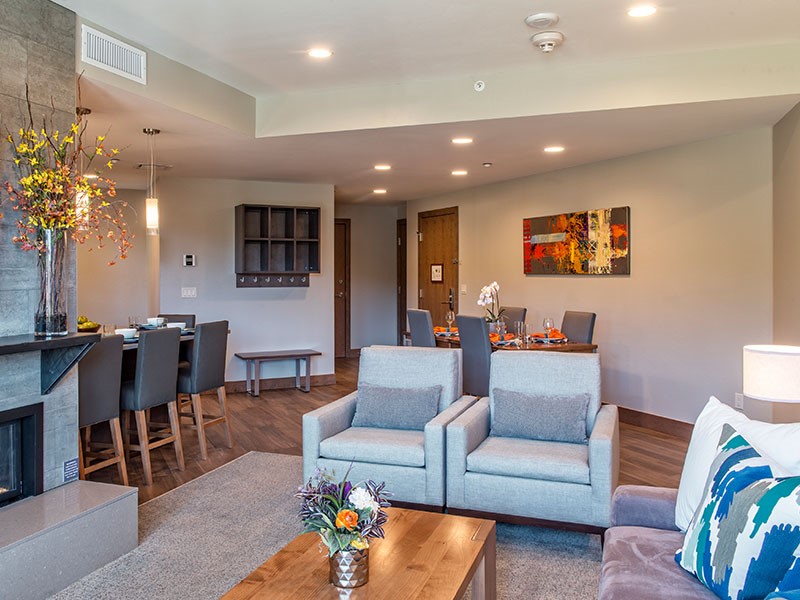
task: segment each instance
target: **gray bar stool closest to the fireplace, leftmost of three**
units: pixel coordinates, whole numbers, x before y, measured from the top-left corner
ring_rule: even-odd
[[[122,430],[119,424],[119,390],[122,379],[122,336],[100,338],[78,363],[78,474],[117,465],[122,485],[128,485]],[[95,425],[108,423],[110,443],[97,439]],[[95,439],[92,440],[92,435]]]

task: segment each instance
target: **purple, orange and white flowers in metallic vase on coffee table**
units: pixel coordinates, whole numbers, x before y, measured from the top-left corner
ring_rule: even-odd
[[[348,470],[336,482],[320,469],[295,494],[303,501],[299,515],[303,533],[318,533],[329,556],[368,548],[370,538],[384,536],[383,526],[389,520],[383,510],[389,506],[384,484],[368,480],[353,485],[347,481],[349,474]]]

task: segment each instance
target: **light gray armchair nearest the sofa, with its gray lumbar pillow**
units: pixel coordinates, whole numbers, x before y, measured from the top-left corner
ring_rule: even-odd
[[[448,507],[608,527],[619,425],[599,355],[495,352],[489,393],[447,428]]]

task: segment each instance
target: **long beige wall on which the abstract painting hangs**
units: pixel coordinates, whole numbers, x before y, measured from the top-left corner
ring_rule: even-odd
[[[459,207],[461,311],[497,280],[528,322],[598,314],[603,399],[694,421],[709,395],[733,402],[742,346],[772,341],[772,148],[767,128],[473,188],[408,205]],[[529,276],[522,219],[631,207],[631,275]],[[409,238],[409,306],[417,253]]]

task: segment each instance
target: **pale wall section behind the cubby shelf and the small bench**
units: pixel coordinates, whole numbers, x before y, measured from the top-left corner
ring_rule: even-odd
[[[245,379],[233,354],[254,350],[314,348],[323,356],[311,361],[312,373],[333,373],[333,186],[165,177],[158,191],[161,312],[230,321],[226,380]],[[236,288],[237,204],[321,207],[321,268],[309,287]],[[197,266],[182,266],[184,254]],[[181,298],[181,287],[196,287],[197,298]],[[291,361],[262,366],[262,378],[288,376]]]

